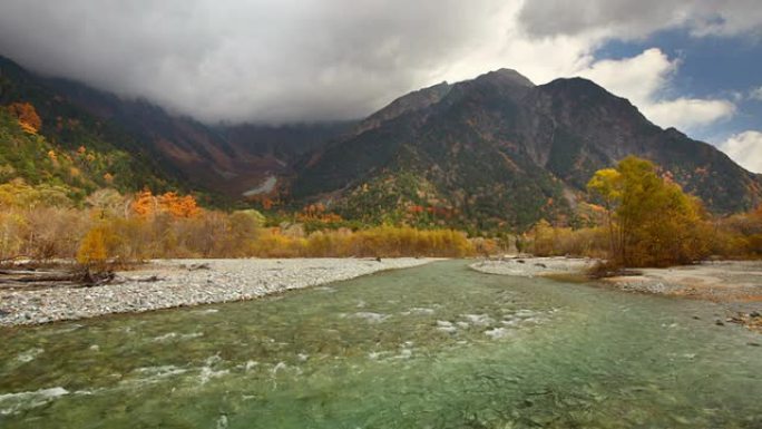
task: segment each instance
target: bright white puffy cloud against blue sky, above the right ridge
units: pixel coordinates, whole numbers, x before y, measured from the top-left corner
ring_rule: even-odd
[[[678,68],[678,60],[651,48],[632,58],[592,62],[576,75],[629,99],[662,127],[698,129],[735,114],[735,105],[725,99],[670,98],[670,82]]]

